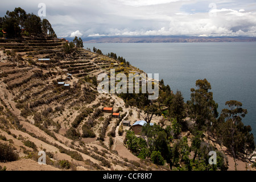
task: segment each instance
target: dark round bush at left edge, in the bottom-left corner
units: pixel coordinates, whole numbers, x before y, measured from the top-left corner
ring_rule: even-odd
[[[19,155],[14,151],[14,147],[7,143],[0,143],[0,162],[12,162],[18,160]]]

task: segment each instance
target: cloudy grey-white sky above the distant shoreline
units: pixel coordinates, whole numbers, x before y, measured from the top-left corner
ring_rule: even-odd
[[[91,36],[256,36],[256,0],[10,0],[6,10],[22,7],[43,13],[59,38]]]

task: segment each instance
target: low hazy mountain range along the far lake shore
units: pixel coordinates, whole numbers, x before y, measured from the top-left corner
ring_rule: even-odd
[[[256,37],[203,37],[203,36],[136,36],[136,37],[92,37],[84,43],[187,43],[187,42],[256,42]]]

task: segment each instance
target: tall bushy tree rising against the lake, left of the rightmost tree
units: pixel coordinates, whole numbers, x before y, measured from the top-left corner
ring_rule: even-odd
[[[206,79],[197,80],[196,86],[198,89],[191,89],[191,101],[187,101],[188,114],[189,117],[195,119],[199,129],[207,126],[209,134],[211,123],[218,117],[218,104],[213,100],[213,93],[208,92],[212,87]]]

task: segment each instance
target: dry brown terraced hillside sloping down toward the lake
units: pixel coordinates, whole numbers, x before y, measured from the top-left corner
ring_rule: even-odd
[[[64,39],[0,39],[0,143],[10,144],[19,156],[0,166],[7,170],[170,170],[168,164],[142,160],[127,149],[125,130],[130,127],[122,126],[123,120],[132,125],[146,113],[117,94],[97,92],[94,76],[100,73],[109,74],[112,68],[116,73],[143,71],[85,49],[66,55],[65,43]],[[42,58],[50,60],[40,63]],[[104,107],[113,107],[121,117],[104,113]],[[154,115],[151,123],[171,124],[163,115]],[[182,137],[191,147],[194,136],[185,131]],[[179,143],[172,141],[172,147]],[[225,154],[225,163],[234,169],[224,146],[214,138],[203,141]],[[42,150],[47,154],[46,166],[37,163]],[[243,158],[237,163],[238,169],[245,170]]]

